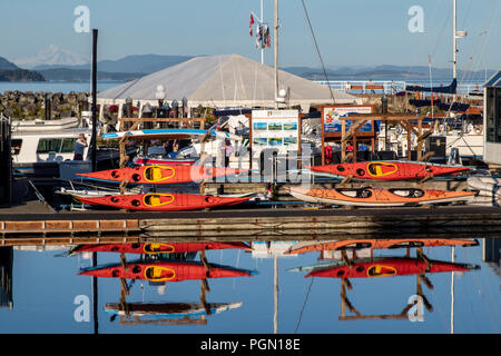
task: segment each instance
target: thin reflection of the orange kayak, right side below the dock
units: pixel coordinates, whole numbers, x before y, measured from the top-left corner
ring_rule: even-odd
[[[299,244],[297,244],[299,245]],[[477,239],[451,239],[451,238],[361,238],[347,240],[334,240],[292,247],[287,255],[304,254],[320,250],[343,249],[392,249],[402,247],[435,247],[435,246],[478,246]]]

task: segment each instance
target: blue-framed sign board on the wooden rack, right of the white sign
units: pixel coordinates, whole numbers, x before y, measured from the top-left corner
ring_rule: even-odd
[[[345,121],[346,130],[352,126],[352,120],[340,120],[340,117],[347,117],[350,113],[373,113],[372,106],[328,106],[322,108],[322,122],[324,134],[341,134],[342,121]],[[371,132],[373,121],[366,122],[358,129],[361,132]]]

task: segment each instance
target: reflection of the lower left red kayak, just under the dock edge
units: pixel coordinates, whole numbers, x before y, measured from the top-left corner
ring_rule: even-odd
[[[179,254],[203,251],[208,249],[242,248],[252,249],[244,243],[138,243],[138,244],[102,244],[102,245],[79,245],[73,248],[69,256],[81,253],[117,253],[117,254]]]

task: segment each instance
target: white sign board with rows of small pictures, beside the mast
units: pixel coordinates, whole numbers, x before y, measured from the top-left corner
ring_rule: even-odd
[[[253,110],[250,120],[253,152],[276,148],[279,152],[298,151],[301,122],[298,110]]]

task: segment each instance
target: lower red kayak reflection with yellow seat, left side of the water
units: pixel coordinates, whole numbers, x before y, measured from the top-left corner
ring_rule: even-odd
[[[122,265],[108,265],[91,267],[79,276],[146,279],[150,281],[180,281],[187,279],[206,279],[223,277],[250,277],[255,273],[252,270],[238,269],[229,266],[209,265],[207,268],[202,263],[194,261],[139,261],[127,264],[127,269]]]

